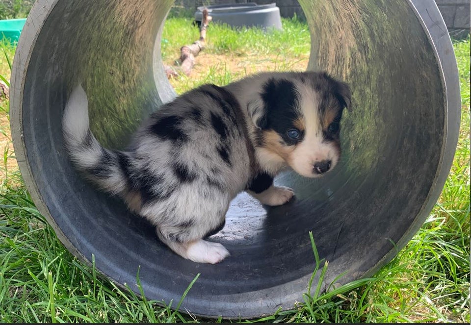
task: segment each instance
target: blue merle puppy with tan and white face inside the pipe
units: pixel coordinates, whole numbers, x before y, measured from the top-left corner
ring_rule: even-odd
[[[204,238],[224,226],[239,192],[281,205],[294,195],[273,185],[281,169],[319,177],[336,166],[344,108],[351,110],[349,87],[326,73],[262,73],[225,87],[203,85],[162,105],[128,150],[105,149],[95,139],[81,86],[62,126],[84,175],[155,225],[171,250],[215,264],[229,252]]]

